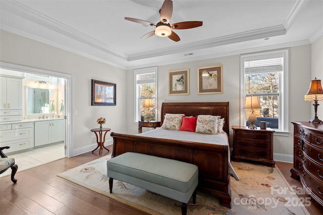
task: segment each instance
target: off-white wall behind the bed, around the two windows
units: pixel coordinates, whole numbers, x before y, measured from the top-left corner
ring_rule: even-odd
[[[243,53],[241,53],[243,54]],[[311,46],[289,48],[289,112],[288,121],[308,121],[310,107],[304,101],[311,79]],[[223,64],[223,94],[197,95],[197,68]],[[168,95],[168,71],[176,69],[190,70],[190,95]],[[137,133],[138,123],[134,119],[134,76],[133,70],[127,70],[127,131]],[[158,66],[158,119],[163,102],[230,102],[230,127],[240,125],[240,55],[191,61],[186,63]],[[143,128],[145,129],[145,128]],[[274,159],[293,162],[293,126],[289,124],[288,136],[274,136]],[[233,131],[230,130],[232,145]]]

